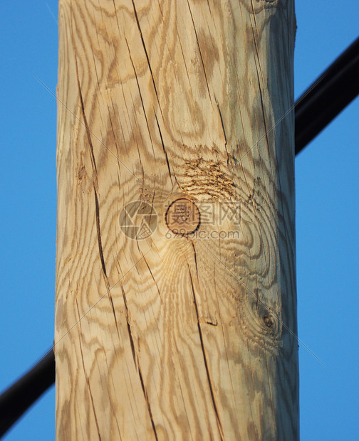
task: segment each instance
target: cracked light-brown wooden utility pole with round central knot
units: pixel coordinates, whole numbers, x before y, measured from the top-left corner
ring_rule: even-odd
[[[60,0],[57,440],[297,440],[293,0]]]

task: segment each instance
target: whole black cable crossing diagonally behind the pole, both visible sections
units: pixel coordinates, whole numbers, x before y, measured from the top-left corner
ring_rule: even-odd
[[[359,94],[359,38],[296,101],[296,154]],[[0,395],[0,437],[55,382],[49,351]]]

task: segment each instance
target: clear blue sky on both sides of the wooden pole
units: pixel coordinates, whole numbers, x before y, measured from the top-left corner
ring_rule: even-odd
[[[296,1],[296,97],[359,35],[359,3]],[[0,390],[53,341],[57,1],[1,2]],[[359,79],[358,79],[359,80]],[[333,97],[335,99],[335,97]],[[301,440],[358,439],[359,99],[296,158]],[[51,388],[4,440],[54,440]]]

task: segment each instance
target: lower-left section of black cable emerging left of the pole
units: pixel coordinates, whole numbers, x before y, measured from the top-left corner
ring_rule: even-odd
[[[55,383],[51,349],[33,368],[0,395],[0,437]]]

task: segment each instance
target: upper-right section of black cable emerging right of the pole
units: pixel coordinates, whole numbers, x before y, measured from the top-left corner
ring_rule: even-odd
[[[359,94],[359,38],[296,101],[296,154]]]

